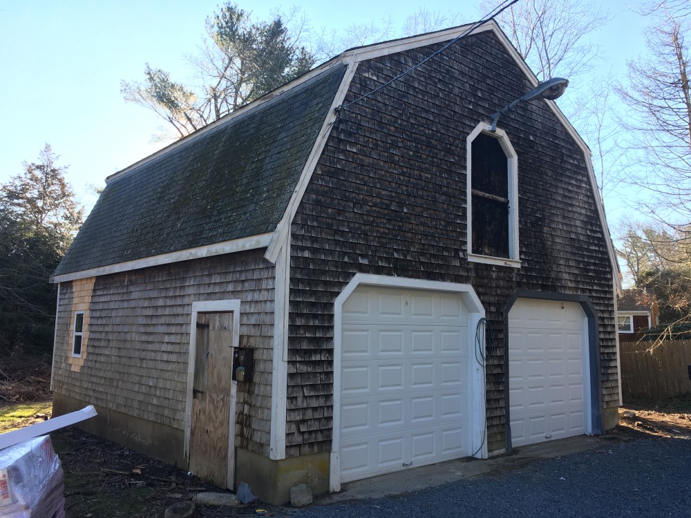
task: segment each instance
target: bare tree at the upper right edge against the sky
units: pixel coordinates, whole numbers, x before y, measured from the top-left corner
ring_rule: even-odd
[[[628,81],[617,91],[630,108],[622,124],[641,164],[634,180],[653,195],[648,209],[659,220],[681,222],[674,228],[683,231],[691,221],[691,86],[685,41],[691,22],[664,3],[653,19],[648,55],[627,64]]]

